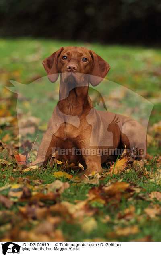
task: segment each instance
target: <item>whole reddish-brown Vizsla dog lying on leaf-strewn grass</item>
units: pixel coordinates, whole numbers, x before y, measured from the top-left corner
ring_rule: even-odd
[[[46,58],[43,66],[51,82],[60,74],[59,102],[50,118],[47,132],[30,165],[44,166],[54,155],[68,164],[80,162],[86,175],[101,172],[101,164],[116,149],[132,150],[137,145],[138,159],[146,154],[146,132],[131,118],[96,111],[88,95],[89,83],[98,85],[110,67],[95,52],[83,47],[62,47]]]

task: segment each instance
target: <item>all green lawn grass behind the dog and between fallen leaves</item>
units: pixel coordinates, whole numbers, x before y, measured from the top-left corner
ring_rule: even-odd
[[[151,101],[154,104],[153,111],[149,119],[149,125],[152,126],[154,123],[160,121],[161,103],[160,103],[160,87],[161,87],[161,74],[160,63],[161,63],[161,50],[150,49],[143,47],[130,47],[120,45],[99,45],[98,43],[81,43],[72,41],[54,41],[47,39],[0,39],[0,86],[1,89],[5,85],[11,86],[8,80],[18,81],[19,83],[26,84],[30,87],[19,87],[23,97],[18,101],[17,108],[21,109],[24,115],[30,113],[31,116],[40,118],[40,124],[35,131],[35,134],[27,134],[22,139],[26,140],[29,138],[34,141],[37,133],[39,133],[38,141],[41,141],[43,132],[45,129],[40,129],[40,126],[47,124],[54,106],[58,101],[58,82],[55,84],[50,83],[47,78],[43,78],[42,82],[35,81],[37,78],[46,76],[45,70],[41,62],[47,56],[50,56],[54,51],[62,46],[82,46],[87,47],[90,50],[94,50],[103,59],[105,59],[111,66],[111,70],[107,75],[107,80],[103,81],[101,85],[96,87],[105,98],[107,109],[109,111],[116,111],[118,113],[126,114],[126,111],[131,109],[130,113],[138,120],[144,120],[144,113],[147,111],[147,106],[142,97]],[[35,82],[33,82],[35,81]],[[30,84],[31,83],[31,84]],[[29,85],[30,84],[30,85]],[[121,86],[120,86],[121,85]],[[119,97],[122,93],[122,88],[126,87],[128,92],[124,98]],[[130,91],[128,91],[130,89]],[[119,91],[121,90],[121,91]],[[135,93],[138,93],[137,96]],[[93,95],[95,91],[91,91]],[[116,97],[110,99],[112,93],[116,93]],[[118,93],[118,94],[117,94]],[[3,91],[1,91],[1,96]],[[134,97],[133,97],[134,95]],[[52,97],[51,97],[52,96]],[[4,98],[8,100],[11,97],[11,103],[9,105],[10,113],[13,115],[16,113],[16,96],[15,94],[4,95]],[[119,103],[119,106],[117,105]],[[2,109],[4,109],[5,102],[2,101]],[[139,107],[138,107],[139,106]],[[100,106],[99,106],[100,107]],[[99,108],[96,104],[96,108]],[[134,110],[134,113],[132,112]],[[150,109],[150,107],[149,107]],[[150,110],[149,110],[150,111]],[[147,116],[146,116],[147,118]],[[7,130],[6,126],[2,126],[0,139],[10,133],[12,136],[13,130]],[[11,139],[12,140],[12,139]],[[161,145],[154,142],[149,145],[148,152],[152,155],[159,155],[161,153]],[[0,158],[5,156],[5,152],[1,152]],[[7,157],[6,157],[7,159]],[[14,165],[14,164],[13,164]],[[33,180],[43,180],[42,184],[39,185],[39,190],[46,193],[45,186],[56,180],[53,173],[58,171],[56,167],[53,169],[47,167],[46,169],[40,169],[38,171],[31,171],[23,173],[21,171],[15,171],[13,165],[9,167],[2,167],[0,173],[0,187],[7,186],[11,183],[11,178],[14,180],[14,184],[26,184],[25,180],[20,182],[20,178],[28,179],[29,184],[34,188],[35,184]],[[156,164],[147,166],[147,171],[156,173],[158,166]],[[70,174],[72,174],[70,172]],[[76,174],[75,174],[76,175]],[[62,182],[68,181],[70,188],[66,189],[58,198],[58,202],[67,201],[72,204],[76,203],[76,200],[86,200],[89,190],[93,187],[98,188],[100,185],[106,185],[108,182],[115,182],[122,180],[133,184],[134,186],[140,186],[141,192],[146,199],[143,199],[138,193],[135,193],[132,198],[124,198],[119,203],[110,201],[108,204],[102,204],[101,202],[89,202],[91,209],[97,209],[94,215],[97,221],[97,227],[91,232],[86,233],[81,229],[81,223],[70,223],[64,219],[58,225],[58,228],[62,230],[63,235],[67,241],[84,241],[94,240],[99,237],[102,240],[107,241],[131,241],[134,239],[141,239],[142,237],[149,236],[153,241],[160,241],[161,237],[161,217],[149,218],[144,212],[144,209],[149,206],[150,201],[147,200],[149,193],[152,191],[161,191],[161,185],[159,182],[152,182],[147,177],[138,175],[136,171],[129,173],[123,173],[121,175],[107,175],[104,180],[101,180],[99,185],[85,184],[85,183],[74,183],[72,180],[65,180],[60,178]],[[12,185],[12,184],[11,184]],[[31,189],[32,190],[32,189]],[[4,188],[0,190],[0,194],[8,195],[10,188]],[[53,202],[47,201],[45,205],[49,207]],[[159,204],[160,201],[156,201],[153,204]],[[16,201],[10,208],[10,213],[15,213],[15,216],[9,214],[2,218],[3,211],[6,210],[4,206],[0,206],[0,223],[2,229],[0,229],[1,238],[5,234],[8,234],[12,227],[22,221],[21,217],[17,215],[19,213],[19,206],[25,206],[26,202]],[[120,211],[124,212],[124,209],[130,205],[135,207],[135,216],[130,220],[124,218],[118,219],[117,215]],[[6,213],[6,212],[5,212]],[[107,223],[103,223],[101,218],[105,215],[110,216],[110,220]],[[141,217],[139,219],[139,217]],[[27,220],[20,229],[31,231],[43,220]],[[11,227],[7,227],[8,223],[11,223]],[[140,229],[139,233],[128,236],[114,236],[114,230],[117,227],[131,227],[132,225],[138,225]]]

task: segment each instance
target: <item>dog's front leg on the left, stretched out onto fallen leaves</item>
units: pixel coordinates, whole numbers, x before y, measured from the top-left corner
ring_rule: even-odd
[[[57,137],[54,136],[53,131],[48,129],[44,134],[41,144],[39,146],[36,160],[29,163],[28,166],[37,165],[42,167],[47,165],[49,159],[52,157],[53,148],[57,145]]]

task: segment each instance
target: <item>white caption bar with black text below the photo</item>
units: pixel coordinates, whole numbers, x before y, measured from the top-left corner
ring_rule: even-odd
[[[0,242],[0,255],[95,255],[151,256],[159,252],[161,242]],[[17,256],[18,256],[17,255]],[[16,256],[16,255],[14,255]]]

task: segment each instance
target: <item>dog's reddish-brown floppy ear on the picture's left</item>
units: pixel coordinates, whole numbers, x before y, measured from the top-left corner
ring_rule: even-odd
[[[49,80],[54,83],[59,76],[58,71],[58,58],[64,48],[60,48],[58,51],[54,52],[48,58],[43,60],[42,64],[47,72],[47,77]]]

